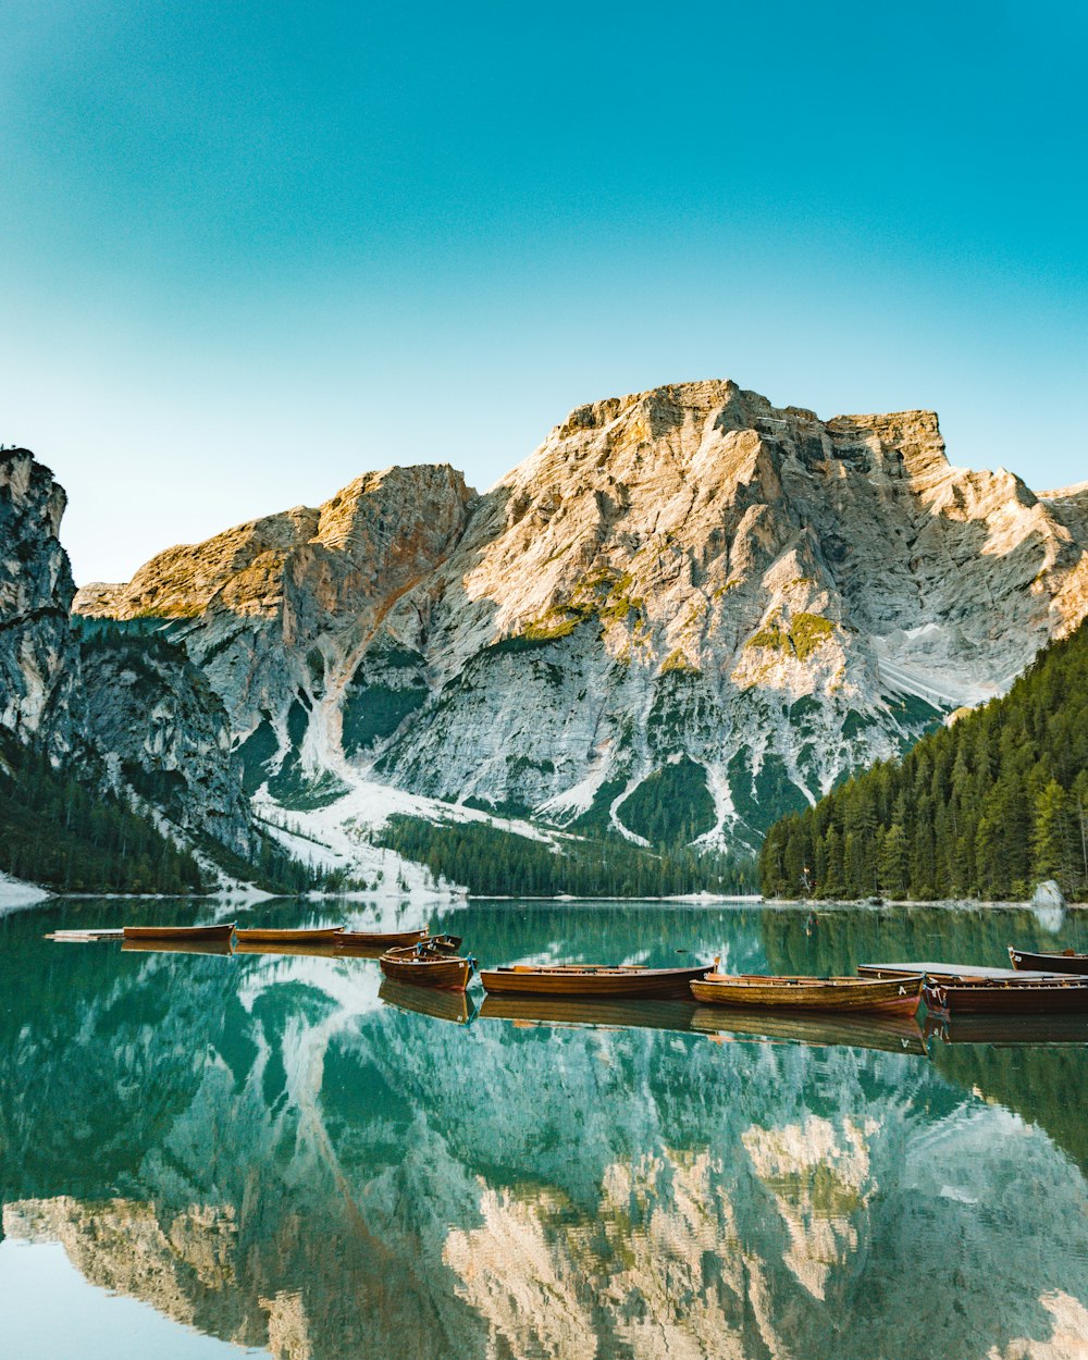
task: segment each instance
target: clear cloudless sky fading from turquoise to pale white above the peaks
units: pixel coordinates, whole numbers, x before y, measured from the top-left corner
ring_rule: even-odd
[[[692,378],[1083,480],[1085,14],[7,0],[0,442],[79,582]]]

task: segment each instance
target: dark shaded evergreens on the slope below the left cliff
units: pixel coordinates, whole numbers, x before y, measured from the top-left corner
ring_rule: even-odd
[[[200,892],[192,854],[148,817],[0,737],[0,868],[57,892]]]

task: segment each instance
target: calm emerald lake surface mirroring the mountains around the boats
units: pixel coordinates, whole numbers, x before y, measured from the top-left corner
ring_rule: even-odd
[[[684,1004],[492,1015],[479,986],[464,1009],[390,993],[366,959],[42,938],[212,914],[0,918],[4,1355],[1088,1355],[1088,1024],[923,1043]],[[246,914],[344,919],[364,913]],[[804,910],[473,903],[382,925],[424,921],[484,964],[1088,948],[1080,913],[826,910],[806,930]]]

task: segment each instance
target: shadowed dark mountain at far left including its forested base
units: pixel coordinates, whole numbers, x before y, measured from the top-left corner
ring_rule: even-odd
[[[0,450],[0,862],[53,887],[192,888],[193,849],[262,847],[227,714],[167,638],[71,616],[65,505],[29,450]]]

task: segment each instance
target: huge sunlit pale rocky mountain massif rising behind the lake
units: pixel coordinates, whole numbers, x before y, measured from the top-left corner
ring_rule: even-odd
[[[953,468],[932,412],[685,384],[579,407],[484,495],[370,473],[75,608],[182,642],[248,789],[337,843],[475,808],[744,849],[1084,617],[1088,487]]]

